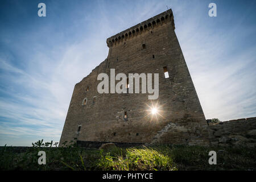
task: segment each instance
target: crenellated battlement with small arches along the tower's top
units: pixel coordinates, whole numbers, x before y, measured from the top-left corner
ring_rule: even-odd
[[[122,42],[123,40],[127,40],[133,38],[134,36],[143,34],[143,32],[150,31],[152,28],[161,26],[163,23],[171,22],[172,27],[175,29],[174,24],[174,15],[172,14],[172,10],[169,9],[160,13],[159,15],[153,16],[150,19],[147,19],[131,28],[128,28],[106,40],[108,47],[114,46],[116,43]]]

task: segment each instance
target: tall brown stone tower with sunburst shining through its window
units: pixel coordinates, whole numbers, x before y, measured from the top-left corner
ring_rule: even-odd
[[[106,40],[108,57],[75,85],[60,146],[74,138],[208,144],[207,122],[174,30],[170,9]],[[112,68],[115,75],[159,73],[158,99],[148,100],[147,93],[98,93],[98,74],[110,77]],[[151,114],[156,104],[158,113]]]

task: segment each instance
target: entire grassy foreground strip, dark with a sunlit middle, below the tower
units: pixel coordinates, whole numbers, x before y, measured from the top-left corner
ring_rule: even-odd
[[[46,165],[38,152],[46,152]],[[209,165],[209,151],[217,152],[217,165]],[[256,170],[256,148],[201,146],[113,147],[109,150],[67,147],[29,147],[0,150],[0,170]]]

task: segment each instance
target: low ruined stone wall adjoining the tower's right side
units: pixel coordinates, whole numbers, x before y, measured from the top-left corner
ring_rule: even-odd
[[[256,146],[256,117],[209,125],[210,144],[217,146]]]

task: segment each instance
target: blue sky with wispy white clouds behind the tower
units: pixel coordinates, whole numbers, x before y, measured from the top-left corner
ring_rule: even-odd
[[[59,142],[73,88],[106,59],[106,39],[166,5],[205,117],[255,117],[256,1],[2,0],[0,146]]]

